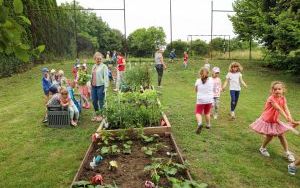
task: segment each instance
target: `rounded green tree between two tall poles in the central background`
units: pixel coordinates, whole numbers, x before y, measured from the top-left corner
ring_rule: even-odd
[[[137,29],[128,36],[129,52],[137,57],[149,56],[157,47],[166,44],[165,38],[162,27]]]

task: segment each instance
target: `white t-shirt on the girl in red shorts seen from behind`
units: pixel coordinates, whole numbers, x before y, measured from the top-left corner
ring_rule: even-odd
[[[213,80],[208,78],[205,84],[202,83],[201,79],[197,79],[195,83],[197,87],[197,104],[209,104],[213,103],[214,92],[213,92]]]

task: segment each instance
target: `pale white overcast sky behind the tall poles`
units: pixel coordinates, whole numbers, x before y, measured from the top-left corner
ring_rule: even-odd
[[[123,8],[123,0],[76,0],[85,8]],[[72,0],[57,0],[60,5]],[[234,0],[214,0],[214,10],[232,10]],[[123,11],[95,11],[111,27],[124,33]],[[213,34],[234,36],[228,15],[214,12]],[[210,35],[211,0],[172,0],[173,41],[190,40],[187,35]],[[127,36],[141,27],[160,26],[170,42],[170,0],[126,0]],[[210,37],[193,37],[209,41]]]

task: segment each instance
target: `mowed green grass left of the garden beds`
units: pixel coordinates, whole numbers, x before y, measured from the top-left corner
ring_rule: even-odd
[[[47,66],[71,75],[71,63]],[[98,127],[93,110],[83,111],[78,128],[41,123],[42,67],[0,79],[0,187],[68,187]]]

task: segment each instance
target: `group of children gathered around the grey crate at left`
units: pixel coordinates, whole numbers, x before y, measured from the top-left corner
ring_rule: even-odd
[[[63,70],[56,71],[52,69],[49,71],[48,68],[43,68],[42,73],[42,86],[46,108],[51,105],[60,105],[68,108],[71,125],[77,126],[81,108],[90,108],[90,75],[87,71],[86,60],[84,60],[83,64],[80,64],[79,59],[76,60],[72,68],[73,79],[67,79],[64,76]],[[81,104],[81,101],[75,99],[74,89],[76,88],[80,92],[83,104]],[[48,117],[46,113],[43,122],[46,123],[47,121]]]

